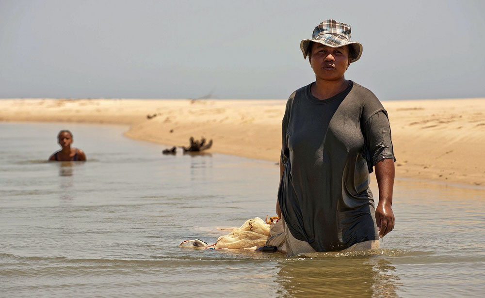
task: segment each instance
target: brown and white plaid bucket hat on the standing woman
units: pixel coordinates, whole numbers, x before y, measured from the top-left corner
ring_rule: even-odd
[[[311,42],[320,43],[328,47],[349,46],[353,48],[352,61],[356,62],[362,55],[362,45],[356,41],[350,41],[350,25],[339,23],[336,20],[324,20],[313,30],[311,39],[304,39],[300,43],[303,58],[307,59]]]

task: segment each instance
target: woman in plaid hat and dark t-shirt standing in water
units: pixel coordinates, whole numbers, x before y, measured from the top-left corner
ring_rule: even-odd
[[[282,124],[276,212],[287,254],[379,248],[394,228],[394,154],[387,111],[345,79],[362,54],[350,26],[328,19],[300,48],[315,82],[291,94]],[[369,188],[375,166],[379,204]]]

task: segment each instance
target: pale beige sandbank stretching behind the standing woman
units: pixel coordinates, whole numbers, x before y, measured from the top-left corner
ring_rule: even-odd
[[[130,138],[168,147],[188,145],[189,137],[204,136],[214,141],[211,152],[278,162],[285,103],[2,99],[0,121],[129,124]],[[398,177],[485,186],[485,99],[383,101],[383,105],[391,122]],[[148,120],[147,114],[157,116]]]

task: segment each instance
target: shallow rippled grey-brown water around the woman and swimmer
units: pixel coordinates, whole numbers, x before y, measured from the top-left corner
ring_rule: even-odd
[[[45,162],[64,128],[88,162]],[[485,188],[397,180],[396,227],[377,251],[287,258],[179,248],[187,239],[214,243],[226,234],[216,227],[274,215],[279,168],[219,154],[164,156],[168,146],[127,139],[126,129],[0,123],[0,296],[481,297],[485,291]]]

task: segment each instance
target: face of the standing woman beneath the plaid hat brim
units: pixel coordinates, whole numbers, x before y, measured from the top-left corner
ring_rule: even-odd
[[[317,78],[333,81],[344,78],[345,70],[352,60],[348,46],[328,47],[312,43],[309,57],[311,68]]]

